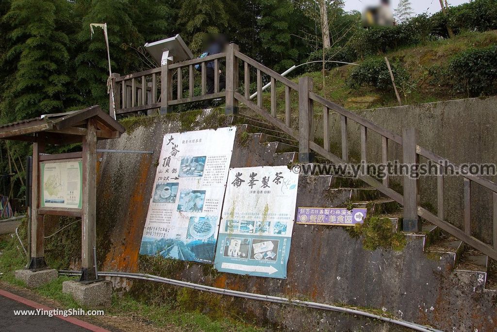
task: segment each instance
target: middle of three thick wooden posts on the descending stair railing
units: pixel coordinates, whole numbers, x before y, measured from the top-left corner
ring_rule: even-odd
[[[314,156],[309,148],[313,117],[313,104],[309,98],[309,91],[313,89],[313,80],[310,77],[299,79],[299,162],[311,163]]]

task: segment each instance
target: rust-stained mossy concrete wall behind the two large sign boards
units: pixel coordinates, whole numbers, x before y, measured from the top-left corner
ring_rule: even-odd
[[[204,119],[208,122],[206,125],[202,124]],[[228,119],[223,117],[204,114],[193,122],[193,127],[222,125],[225,120],[227,123]],[[478,274],[453,272],[452,256],[427,258],[422,251],[423,237],[419,236],[410,237],[402,251],[368,251],[363,249],[360,239],[352,239],[341,228],[295,225],[286,280],[219,273],[208,264],[139,257],[162,138],[185,127],[174,116],[147,122],[146,126],[138,126],[118,140],[99,143],[99,148],[154,151],[152,156],[103,156],[97,189],[100,270],[142,270],[221,288],[384,310],[442,330],[493,331],[496,328],[496,293],[483,289]],[[274,155],[273,145],[261,145],[256,137],[237,130],[231,167],[286,163],[284,155]],[[302,176],[297,205],[343,204],[345,197],[339,191],[334,195],[324,194],[329,181],[328,177]],[[154,299],[171,296],[170,288],[161,287],[135,281],[132,290],[141,296],[150,294]],[[229,297],[223,297],[216,306],[220,303],[235,310],[236,315],[243,315],[248,322],[256,320],[283,330],[401,331],[396,326],[332,312]]]

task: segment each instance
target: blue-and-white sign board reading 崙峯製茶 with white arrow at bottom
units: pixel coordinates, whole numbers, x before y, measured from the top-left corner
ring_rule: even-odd
[[[214,266],[286,278],[299,174],[287,166],[231,168]]]

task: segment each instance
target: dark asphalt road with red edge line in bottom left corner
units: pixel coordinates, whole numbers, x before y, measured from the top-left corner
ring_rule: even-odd
[[[25,299],[23,299],[25,300]],[[24,303],[20,303],[0,294],[0,331],[5,332],[58,332],[58,331],[91,331],[58,317],[48,316],[15,316],[14,310],[36,310]],[[74,318],[71,318],[74,319]],[[81,321],[80,321],[81,322]],[[84,323],[84,322],[83,322]],[[93,329],[92,329],[93,330]],[[103,330],[103,329],[102,329]],[[93,330],[95,331],[95,330]],[[101,331],[101,330],[100,330]],[[105,330],[104,330],[105,331]]]

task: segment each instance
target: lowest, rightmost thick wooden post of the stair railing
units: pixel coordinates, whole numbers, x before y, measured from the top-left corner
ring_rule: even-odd
[[[419,165],[419,156],[416,153],[416,146],[419,137],[417,129],[404,129],[402,134],[404,164],[409,165],[409,167]],[[406,174],[404,176],[403,229],[404,232],[420,232],[421,223],[417,217],[417,207],[419,206],[419,181],[417,178],[410,175],[412,174]]]

